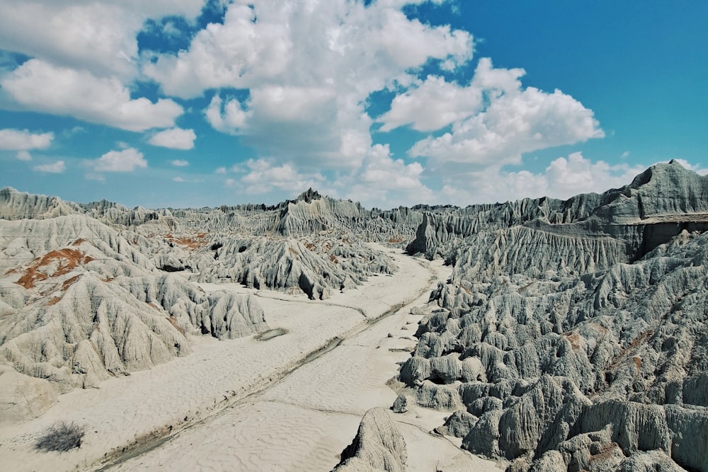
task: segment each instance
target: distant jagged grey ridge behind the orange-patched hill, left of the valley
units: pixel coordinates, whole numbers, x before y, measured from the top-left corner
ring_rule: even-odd
[[[102,229],[103,233],[96,234],[89,229],[76,238],[105,241],[104,236],[120,237],[130,241],[123,247],[135,249],[139,257],[149,258],[164,272],[182,272],[201,282],[239,282],[259,289],[303,292],[312,299],[357,287],[371,275],[394,272],[392,260],[364,242],[401,245],[422,218],[420,212],[409,209],[364,209],[358,203],[322,197],[314,190],[273,207],[158,210],[127,209],[105,200],[77,205],[13,189],[0,193],[0,216],[6,219],[63,214],[72,214],[74,222],[92,221],[92,228],[100,221],[115,233],[104,234]],[[13,234],[29,234],[35,220],[28,221],[12,229]],[[57,224],[62,227],[53,233],[67,226],[65,221]]]

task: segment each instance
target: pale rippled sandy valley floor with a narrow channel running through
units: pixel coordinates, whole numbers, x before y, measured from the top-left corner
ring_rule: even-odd
[[[67,393],[40,418],[1,427],[0,469],[329,471],[365,411],[393,403],[387,381],[409,357],[404,350],[413,349],[420,319],[410,308],[427,301],[434,278],[449,275],[440,263],[378,248],[400,270],[358,290],[326,301],[257,292],[269,326],[285,334],[199,338],[192,355]],[[445,413],[409,398],[409,412],[392,417],[408,445],[409,470],[498,470],[457,449],[454,438],[429,434]],[[81,449],[34,451],[57,420],[86,426]]]

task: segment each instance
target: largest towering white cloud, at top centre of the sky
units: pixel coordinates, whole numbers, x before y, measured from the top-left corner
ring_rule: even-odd
[[[188,50],[157,54],[144,73],[168,94],[217,89],[205,110],[215,129],[239,134],[261,155],[310,168],[359,166],[343,156],[353,136],[370,142],[365,102],[430,59],[464,64],[472,36],[433,27],[400,11],[401,2],[264,0],[229,5]],[[409,3],[409,2],[406,2]],[[248,90],[243,103],[220,88]]]

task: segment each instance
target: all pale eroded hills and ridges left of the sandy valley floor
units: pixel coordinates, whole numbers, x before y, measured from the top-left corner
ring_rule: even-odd
[[[268,330],[255,298],[195,282],[324,299],[396,270],[365,241],[401,245],[422,214],[313,190],[273,207],[153,210],[6,188],[0,218],[0,392],[4,418],[25,418],[57,393],[188,355],[191,335]]]

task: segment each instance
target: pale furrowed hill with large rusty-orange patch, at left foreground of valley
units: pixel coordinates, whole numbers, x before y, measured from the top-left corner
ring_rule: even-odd
[[[0,361],[43,379],[34,391],[98,386],[188,355],[189,335],[268,330],[253,297],[166,275],[96,219],[0,221],[0,233]]]

